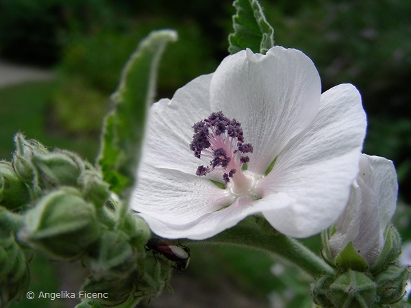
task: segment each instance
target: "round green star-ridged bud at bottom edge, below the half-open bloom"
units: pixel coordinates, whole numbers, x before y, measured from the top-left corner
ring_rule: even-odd
[[[364,272],[348,270],[329,285],[329,299],[336,308],[373,307],[377,303],[377,285]]]

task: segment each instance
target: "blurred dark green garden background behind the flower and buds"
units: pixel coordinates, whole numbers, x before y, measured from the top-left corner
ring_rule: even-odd
[[[345,82],[360,90],[369,120],[364,152],[395,162],[397,226],[403,239],[411,240],[406,205],[411,203],[411,1],[260,2],[276,44],[310,56],[323,91]],[[186,82],[212,73],[227,55],[232,14],[232,1],[221,0],[0,1],[0,59],[47,68],[55,76],[0,88],[0,157],[11,158],[14,133],[22,131],[94,162],[110,94],[138,42],[153,29],[178,31],[179,41],[169,45],[158,75],[158,98],[171,98]],[[318,238],[306,242],[319,251]],[[75,272],[81,277],[79,264],[64,269],[41,256],[35,264],[30,290],[66,290],[64,283]],[[201,298],[201,292],[208,300],[218,299],[205,307],[305,307],[306,277],[294,269],[283,268],[281,274],[278,264],[273,274],[272,265],[258,253],[192,247],[190,268],[173,278],[175,295],[165,295],[166,307],[192,307],[190,300]],[[76,290],[81,279],[73,280],[70,287]],[[165,307],[161,300],[153,300],[151,307]],[[15,307],[64,305],[73,304],[22,300]]]

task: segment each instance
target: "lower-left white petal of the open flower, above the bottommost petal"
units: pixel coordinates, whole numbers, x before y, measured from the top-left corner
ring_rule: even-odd
[[[185,224],[232,202],[226,190],[203,177],[142,164],[130,206],[155,219]]]

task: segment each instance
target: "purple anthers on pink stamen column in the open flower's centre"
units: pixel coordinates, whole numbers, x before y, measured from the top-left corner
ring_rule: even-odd
[[[223,170],[225,185],[232,180],[231,188],[235,194],[248,190],[253,182],[242,172],[242,166],[249,162],[253,146],[244,142],[240,122],[229,120],[223,112],[213,112],[208,118],[192,126],[194,135],[190,150],[195,157],[210,159],[208,166],[199,166],[196,175],[203,176],[214,170]]]

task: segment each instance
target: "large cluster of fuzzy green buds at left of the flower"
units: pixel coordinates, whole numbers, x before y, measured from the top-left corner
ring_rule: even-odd
[[[110,294],[84,307],[136,303],[164,290],[169,264],[146,253],[147,224],[120,210],[125,205],[99,170],[21,134],[14,141],[12,162],[0,162],[0,307],[25,294],[33,251],[82,260],[89,271],[82,289]]]

